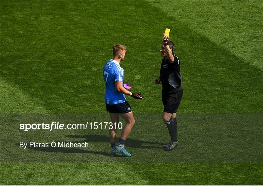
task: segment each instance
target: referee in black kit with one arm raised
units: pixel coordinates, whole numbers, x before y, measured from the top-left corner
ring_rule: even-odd
[[[160,69],[160,76],[156,84],[162,84],[162,101],[164,105],[163,121],[170,134],[170,142],[163,146],[165,151],[173,150],[177,145],[176,112],[183,96],[181,88],[182,77],[180,74],[180,61],[174,54],[174,44],[167,35],[163,37],[161,56],[164,57]]]

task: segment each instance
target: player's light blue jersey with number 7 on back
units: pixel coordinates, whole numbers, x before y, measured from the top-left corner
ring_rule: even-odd
[[[124,70],[120,64],[110,59],[103,67],[103,77],[105,82],[105,103],[118,104],[126,102],[125,95],[115,88],[115,81],[122,82],[123,86]]]

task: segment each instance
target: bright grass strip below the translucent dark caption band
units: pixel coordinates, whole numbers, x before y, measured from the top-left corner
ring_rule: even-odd
[[[262,163],[0,163],[9,185],[262,185]],[[15,179],[14,179],[15,178]]]

